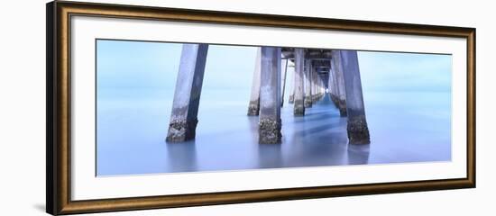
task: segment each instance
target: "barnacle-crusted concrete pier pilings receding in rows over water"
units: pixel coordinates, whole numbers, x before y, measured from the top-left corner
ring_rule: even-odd
[[[195,138],[207,49],[207,44],[183,45],[168,142]],[[286,61],[282,69],[283,58]],[[370,143],[356,51],[278,47],[261,47],[257,51],[248,115],[259,116],[259,143],[281,142],[280,107],[284,104],[289,61],[295,67],[289,91],[294,115],[304,116],[305,109],[327,90],[341,116],[347,116],[349,143]]]

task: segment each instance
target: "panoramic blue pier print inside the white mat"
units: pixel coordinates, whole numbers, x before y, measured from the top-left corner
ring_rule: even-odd
[[[452,55],[96,40],[96,176],[451,160]]]

